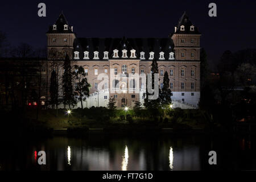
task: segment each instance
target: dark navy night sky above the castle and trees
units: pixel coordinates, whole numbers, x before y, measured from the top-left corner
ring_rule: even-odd
[[[47,16],[39,18],[38,3]],[[208,16],[210,2],[217,4],[217,17]],[[4,1],[0,5],[0,30],[12,46],[21,42],[35,48],[46,46],[46,31],[63,10],[79,37],[156,37],[174,32],[184,11],[199,27],[201,47],[210,64],[226,49],[256,48],[256,1]]]

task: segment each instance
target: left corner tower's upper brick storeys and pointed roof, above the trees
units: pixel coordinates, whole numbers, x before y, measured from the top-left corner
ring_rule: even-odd
[[[76,35],[73,32],[73,27],[69,26],[63,13],[60,14],[54,24],[49,26],[46,35],[48,59],[51,59],[51,51],[58,51],[61,54],[63,53],[63,56],[68,55],[69,57],[72,57],[73,42]]]

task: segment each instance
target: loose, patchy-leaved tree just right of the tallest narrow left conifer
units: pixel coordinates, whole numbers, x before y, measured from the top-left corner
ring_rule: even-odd
[[[84,68],[79,65],[74,66],[75,71],[73,71],[73,76],[75,76],[75,80],[77,82],[77,86],[75,88],[75,91],[79,94],[79,100],[81,102],[81,107],[84,109],[82,106],[82,101],[86,100],[86,97],[89,97],[89,87],[90,84],[87,82],[87,78],[85,77],[85,72]]]

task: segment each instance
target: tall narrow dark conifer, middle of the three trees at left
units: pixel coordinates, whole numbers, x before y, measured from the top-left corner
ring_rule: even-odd
[[[71,60],[69,59],[68,55],[65,57],[63,69],[63,104],[64,108],[66,107],[66,105],[68,105],[69,109],[71,109],[71,106],[73,107],[76,105],[76,100],[73,93]]]

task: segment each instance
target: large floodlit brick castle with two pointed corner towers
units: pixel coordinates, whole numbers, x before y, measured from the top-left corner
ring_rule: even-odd
[[[84,68],[91,85],[84,107],[107,106],[109,97],[117,100],[118,107],[133,107],[135,101],[143,104],[146,83],[142,77],[151,72],[156,59],[159,87],[167,71],[174,107],[197,108],[201,34],[185,13],[167,38],[79,38],[63,14],[46,35],[48,59],[52,59],[51,51],[59,51]]]

